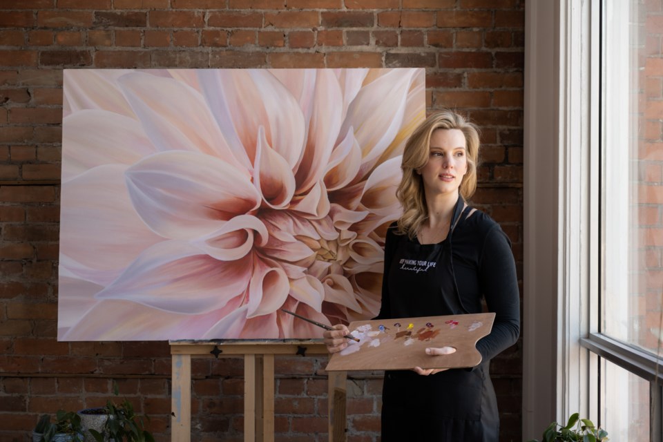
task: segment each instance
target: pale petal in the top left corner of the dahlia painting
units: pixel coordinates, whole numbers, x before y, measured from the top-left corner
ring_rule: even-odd
[[[117,79],[131,73],[125,69],[66,69],[63,75],[63,114],[83,109],[104,109],[135,118]]]

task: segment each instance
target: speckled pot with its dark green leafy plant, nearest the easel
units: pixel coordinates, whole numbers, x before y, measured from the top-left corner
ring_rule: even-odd
[[[116,383],[113,390],[117,396]],[[144,417],[135,414],[126,398],[119,404],[107,401],[105,407],[81,410],[79,415],[84,421],[86,442],[154,442],[154,436],[145,430]]]

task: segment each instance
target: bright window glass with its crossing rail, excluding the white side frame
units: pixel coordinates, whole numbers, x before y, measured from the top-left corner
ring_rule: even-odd
[[[663,9],[600,4],[600,418],[613,440],[661,440]]]

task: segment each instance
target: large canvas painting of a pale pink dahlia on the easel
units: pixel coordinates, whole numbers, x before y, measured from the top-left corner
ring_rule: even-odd
[[[423,69],[65,70],[59,340],[378,313]]]

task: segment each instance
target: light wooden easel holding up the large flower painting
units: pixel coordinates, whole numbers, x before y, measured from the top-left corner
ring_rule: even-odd
[[[320,340],[171,341],[172,442],[191,442],[191,356],[244,356],[244,441],[274,440],[274,356],[327,354]],[[346,441],[347,372],[329,372],[329,442]]]

